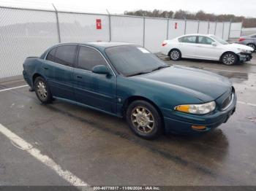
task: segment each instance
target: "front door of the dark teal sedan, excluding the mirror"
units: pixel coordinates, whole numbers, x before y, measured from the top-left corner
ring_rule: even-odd
[[[105,65],[111,74],[95,74],[94,66]],[[116,113],[116,75],[99,50],[80,46],[74,70],[75,98],[78,102]]]

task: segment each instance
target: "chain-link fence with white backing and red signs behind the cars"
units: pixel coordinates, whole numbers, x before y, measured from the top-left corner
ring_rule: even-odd
[[[55,7],[54,7],[55,8]],[[173,20],[0,7],[0,79],[22,74],[28,56],[59,42],[130,42],[159,52],[165,39],[183,34],[239,37],[241,23]]]

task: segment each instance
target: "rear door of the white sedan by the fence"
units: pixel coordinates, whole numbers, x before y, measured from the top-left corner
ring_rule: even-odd
[[[183,36],[178,41],[182,58],[195,58],[197,36]]]

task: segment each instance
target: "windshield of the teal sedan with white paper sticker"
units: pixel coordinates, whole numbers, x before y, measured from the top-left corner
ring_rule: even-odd
[[[168,67],[156,55],[136,45],[108,47],[105,52],[116,70],[124,76],[145,74]]]

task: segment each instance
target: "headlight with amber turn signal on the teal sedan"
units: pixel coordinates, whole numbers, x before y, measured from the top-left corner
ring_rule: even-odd
[[[174,109],[179,112],[186,112],[190,114],[208,114],[209,112],[214,111],[215,107],[215,101],[211,101],[206,104],[179,105]]]

